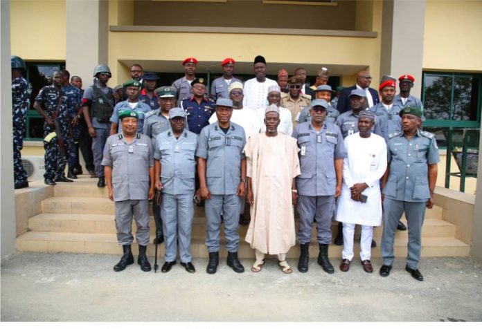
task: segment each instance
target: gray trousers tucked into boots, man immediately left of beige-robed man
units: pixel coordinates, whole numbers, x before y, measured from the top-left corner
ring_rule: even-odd
[[[236,194],[213,195],[205,201],[206,217],[208,218],[206,247],[208,252],[220,251],[221,213],[224,219],[224,236],[226,236],[226,250],[238,252],[240,235],[240,197]]]

